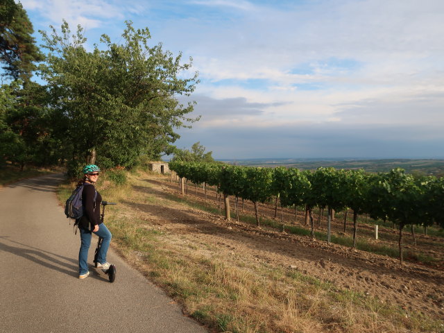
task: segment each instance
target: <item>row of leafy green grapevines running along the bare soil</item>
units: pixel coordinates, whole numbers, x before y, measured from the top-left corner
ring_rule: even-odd
[[[401,262],[402,230],[405,225],[427,227],[436,223],[444,227],[443,178],[414,177],[402,169],[393,169],[388,173],[334,168],[300,171],[285,167],[272,169],[181,161],[170,162],[169,167],[182,180],[187,178],[195,184],[216,187],[224,196],[227,219],[230,219],[228,196],[252,201],[257,225],[257,203],[278,197],[282,207],[305,207],[311,237],[314,237],[314,207],[327,208],[329,242],[332,210],[352,210],[355,230],[359,214],[396,223],[399,227]],[[354,244],[355,241],[356,232]]]

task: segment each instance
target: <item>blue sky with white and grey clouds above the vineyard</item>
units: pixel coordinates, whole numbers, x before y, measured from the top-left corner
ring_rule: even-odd
[[[179,130],[179,148],[200,142],[238,160],[444,158],[442,0],[22,4],[35,31],[65,19],[92,47],[102,33],[118,42],[130,19],[192,57],[201,119]]]

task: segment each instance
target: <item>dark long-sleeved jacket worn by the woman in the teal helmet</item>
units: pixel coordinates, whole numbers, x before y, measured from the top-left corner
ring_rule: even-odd
[[[83,216],[78,222],[79,228],[86,230],[93,230],[94,225],[101,224],[100,219],[100,204],[102,202],[102,196],[97,192],[96,201],[94,203],[94,195],[96,188],[89,182],[85,182],[82,192],[83,203]]]

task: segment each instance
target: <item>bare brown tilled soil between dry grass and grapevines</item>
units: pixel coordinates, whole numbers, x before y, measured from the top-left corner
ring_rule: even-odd
[[[149,183],[150,187],[135,187],[136,191],[158,197],[171,194],[180,196],[178,185],[166,178],[150,176],[143,181]],[[201,189],[196,193],[197,196],[194,195],[194,187],[190,187],[187,198],[214,205],[214,192],[211,194],[214,198],[207,199]],[[328,245],[325,241],[257,228],[247,223],[225,221],[223,216],[184,208],[176,203],[171,204],[171,207],[155,204],[142,206],[134,208],[141,212],[143,219],[167,232],[186,235],[187,239],[196,244],[213,244],[227,257],[242,253],[246,260],[295,269],[332,282],[337,287],[358,291],[408,311],[420,311],[432,318],[444,320],[443,268],[411,262],[400,266],[399,260],[390,257],[336,244]],[[266,208],[260,209],[263,212]],[[436,237],[429,239],[433,242],[442,241]],[[435,246],[432,251],[442,257],[443,246]]]

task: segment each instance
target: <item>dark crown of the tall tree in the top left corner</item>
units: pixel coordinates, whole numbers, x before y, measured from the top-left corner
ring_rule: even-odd
[[[35,45],[33,24],[21,3],[0,0],[0,60],[5,74],[25,82],[35,70],[34,62],[43,55]]]

